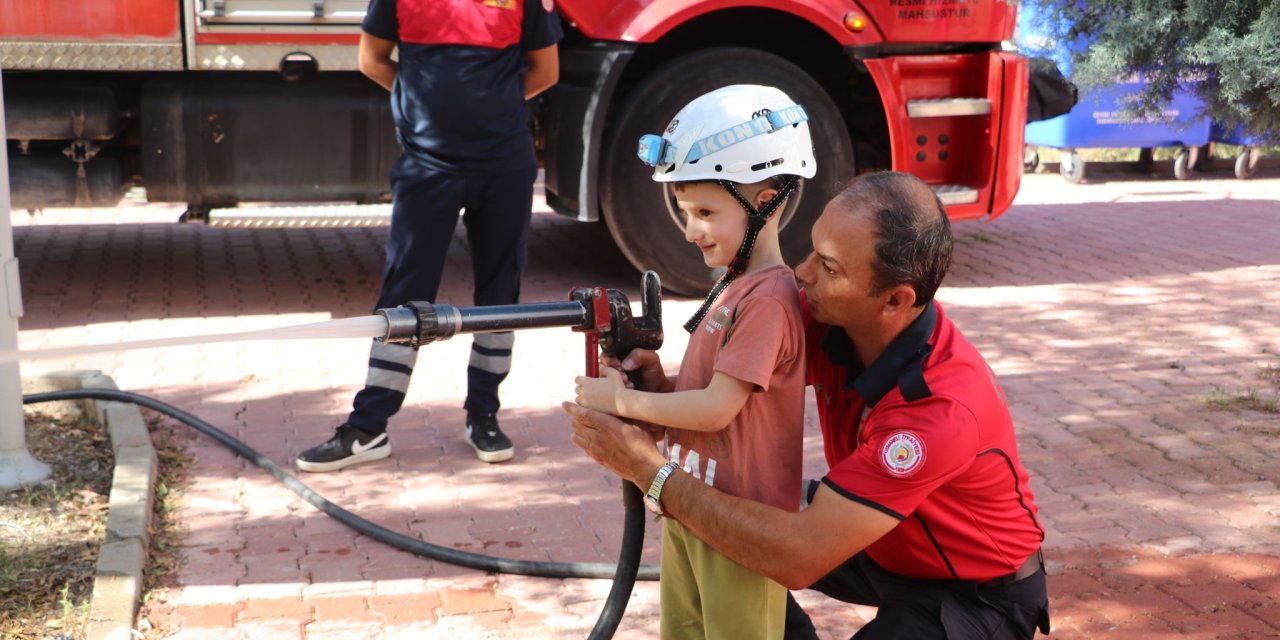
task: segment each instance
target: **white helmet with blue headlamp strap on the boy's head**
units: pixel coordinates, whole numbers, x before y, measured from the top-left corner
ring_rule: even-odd
[[[813,178],[809,116],[774,87],[731,84],[685,105],[662,136],[643,136],[637,151],[657,182],[730,180],[774,175]]]

